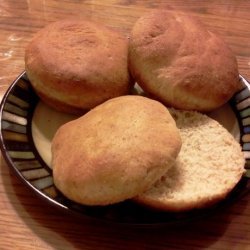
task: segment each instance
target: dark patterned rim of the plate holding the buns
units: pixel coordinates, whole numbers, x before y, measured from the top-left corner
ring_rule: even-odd
[[[32,119],[39,98],[34,93],[25,72],[9,87],[1,103],[0,146],[2,154],[9,167],[26,185],[48,202],[63,209],[105,221],[139,226],[168,225],[197,219],[213,212],[216,208],[228,205],[249,190],[250,86],[241,76],[240,81],[243,88],[230,100],[229,107],[237,118],[239,141],[246,158],[246,173],[227,199],[209,209],[176,214],[153,212],[132,201],[105,207],[88,207],[65,198],[55,188],[52,169],[34,143]]]

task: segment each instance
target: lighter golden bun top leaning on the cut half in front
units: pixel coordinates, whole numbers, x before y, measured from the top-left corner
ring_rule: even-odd
[[[52,141],[54,182],[81,204],[120,202],[153,185],[180,148],[175,121],[161,103],[117,97],[59,128]]]

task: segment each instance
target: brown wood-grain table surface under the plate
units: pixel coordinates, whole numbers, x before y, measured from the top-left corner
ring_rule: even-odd
[[[24,48],[46,24],[70,16],[101,21],[124,34],[151,8],[164,5],[198,16],[221,35],[250,79],[247,0],[1,0],[0,93],[24,69]],[[65,214],[24,186],[0,159],[0,249],[250,249],[250,196],[209,218],[153,229],[115,227]]]

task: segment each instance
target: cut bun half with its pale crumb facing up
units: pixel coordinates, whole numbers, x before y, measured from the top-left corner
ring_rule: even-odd
[[[170,113],[182,148],[174,166],[135,200],[166,211],[209,207],[224,199],[244,173],[239,143],[212,118],[194,111]]]

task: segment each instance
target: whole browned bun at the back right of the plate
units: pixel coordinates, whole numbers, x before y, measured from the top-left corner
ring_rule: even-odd
[[[230,48],[182,12],[153,10],[139,18],[131,31],[128,58],[142,89],[178,109],[211,111],[240,88]]]

